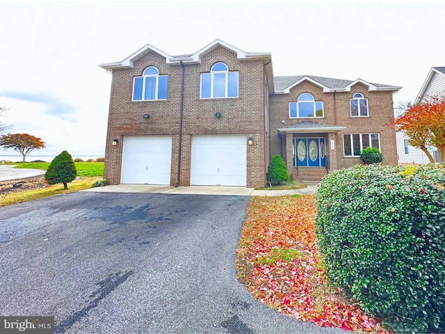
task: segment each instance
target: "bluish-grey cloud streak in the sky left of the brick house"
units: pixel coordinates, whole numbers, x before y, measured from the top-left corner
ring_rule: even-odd
[[[44,94],[44,93],[25,93],[12,90],[0,91],[0,97],[6,97],[13,100],[19,100],[23,102],[33,102],[42,104],[44,108],[42,113],[49,116],[55,116],[62,120],[75,121],[74,113],[76,112],[76,106],[69,104],[58,97]]]

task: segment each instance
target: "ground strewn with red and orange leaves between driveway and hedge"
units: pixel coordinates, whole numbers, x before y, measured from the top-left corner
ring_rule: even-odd
[[[263,303],[302,321],[387,333],[380,321],[327,283],[315,216],[315,196],[253,197],[238,244],[238,279]]]

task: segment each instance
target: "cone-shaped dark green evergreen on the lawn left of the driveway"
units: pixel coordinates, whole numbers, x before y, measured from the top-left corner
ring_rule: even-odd
[[[76,164],[67,151],[58,154],[49,164],[47,172],[44,173],[44,180],[48,184],[63,183],[63,189],[68,189],[67,183],[76,178]]]

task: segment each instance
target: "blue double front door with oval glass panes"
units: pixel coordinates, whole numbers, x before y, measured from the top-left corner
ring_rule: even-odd
[[[325,167],[325,138],[293,138],[293,166]]]

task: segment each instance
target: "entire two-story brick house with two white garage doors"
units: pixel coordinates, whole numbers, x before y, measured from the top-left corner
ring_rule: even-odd
[[[273,77],[269,53],[215,40],[170,56],[146,45],[113,75],[104,177],[111,184],[264,186],[280,154],[289,174],[320,180],[379,148],[396,164],[387,127],[401,87],[314,76]]]

